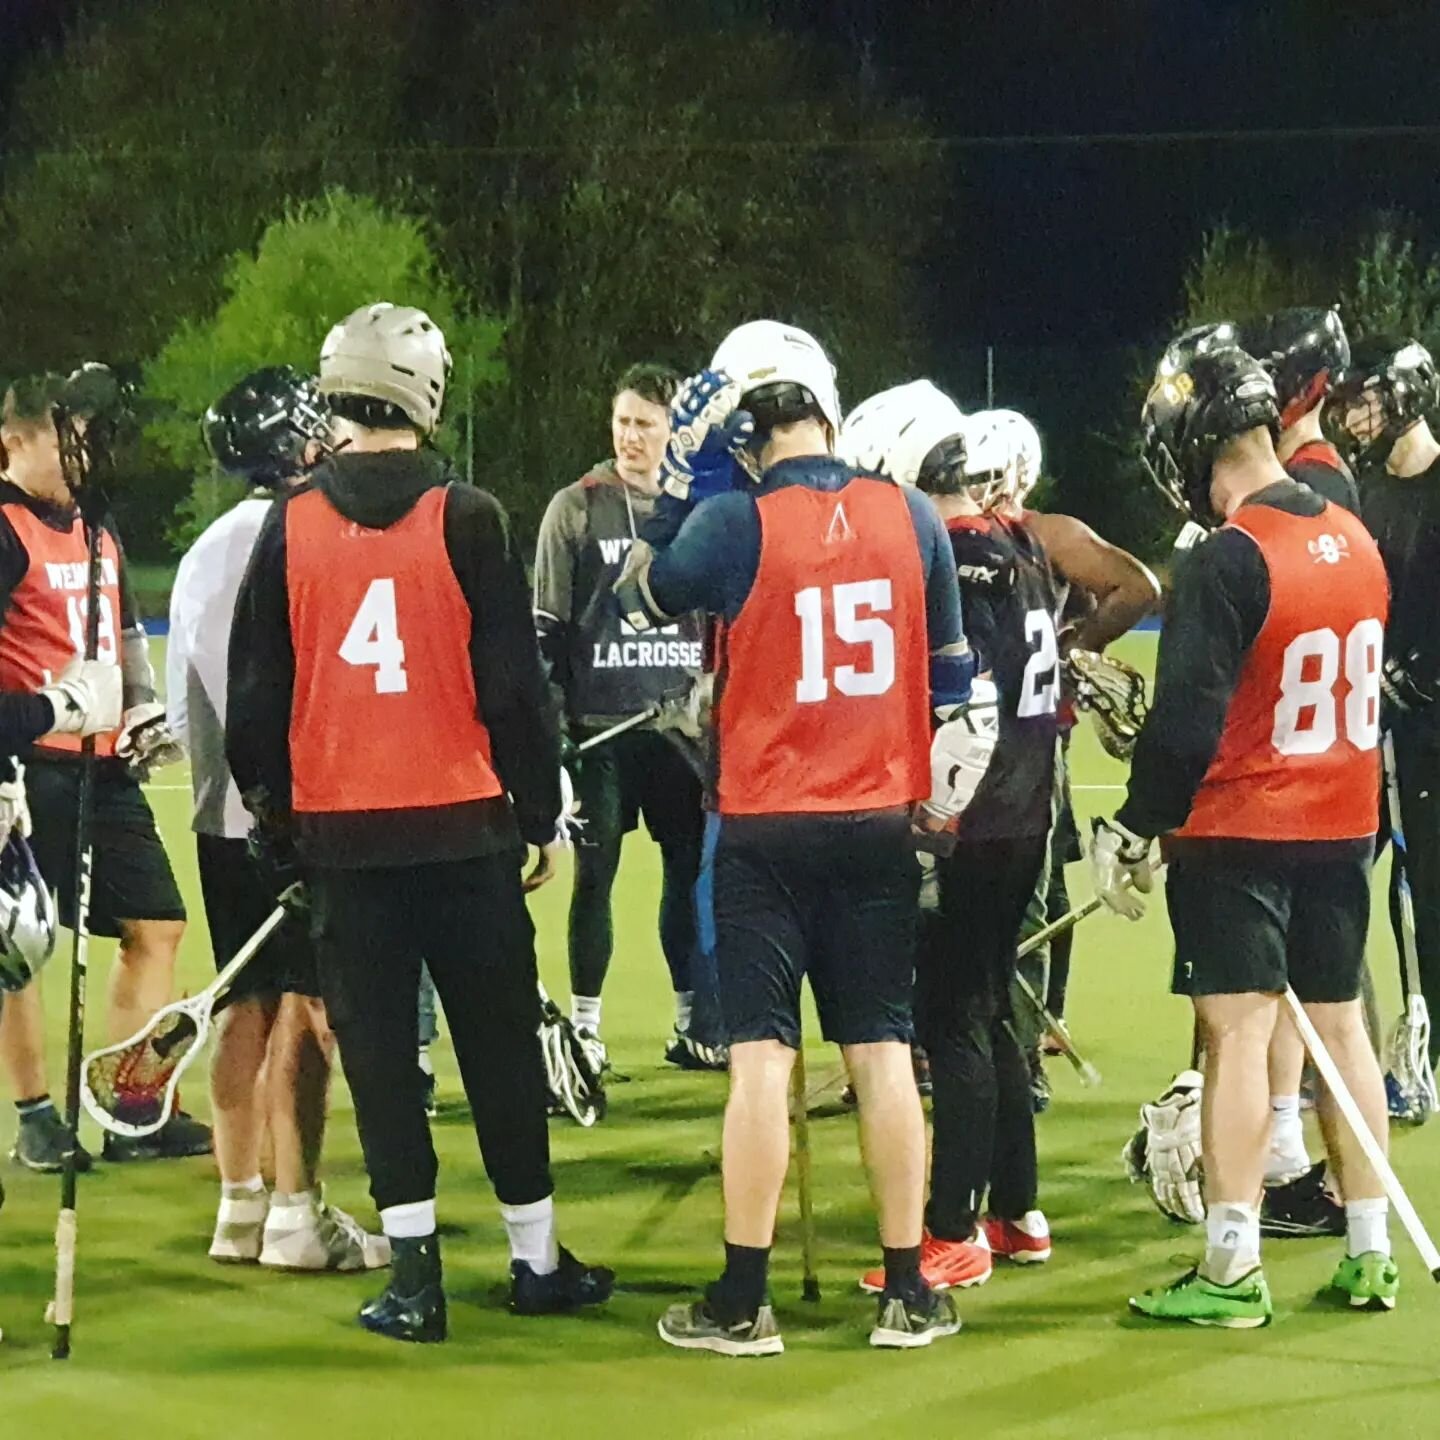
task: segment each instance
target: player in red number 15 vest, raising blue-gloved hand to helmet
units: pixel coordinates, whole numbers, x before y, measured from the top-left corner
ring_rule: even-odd
[[[707,851],[730,1044],[726,1266],[704,1299],[665,1313],[660,1333],[724,1355],[783,1349],[766,1274],[808,975],[858,1093],[880,1211],[884,1283],[870,1339],[929,1345],[959,1318],[920,1273],[910,806],[932,796],[932,701],[949,716],[969,698],[955,566],[922,495],[832,456],[834,367],[805,331],[742,325],[681,386],[672,419],[672,498],[684,503],[697,472],[723,469],[717,459],[753,484],[698,503],[654,556],[635,547],[618,588],[636,628],[696,609],[721,621]],[[935,744],[929,824],[939,827],[973,789],[991,742],[962,716]]]

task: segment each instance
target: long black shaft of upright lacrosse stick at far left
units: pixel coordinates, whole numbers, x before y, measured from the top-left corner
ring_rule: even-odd
[[[99,517],[85,523],[88,567],[85,575],[85,658],[99,652],[99,603],[104,530]],[[118,616],[117,616],[118,618]],[[75,802],[75,930],[71,942],[69,1047],[65,1057],[65,1153],[60,1156],[60,1212],[55,1225],[55,1345],[53,1359],[71,1358],[71,1323],[75,1313],[76,1152],[81,1129],[81,1064],[85,1054],[85,981],[89,971],[89,903],[95,861],[91,844],[91,809],[95,804],[95,737],[81,742],[81,783]]]

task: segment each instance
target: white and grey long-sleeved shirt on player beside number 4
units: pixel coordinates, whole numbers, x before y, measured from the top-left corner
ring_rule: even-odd
[[[166,694],[170,729],[190,750],[192,828],[243,840],[251,816],[225,763],[225,690],[230,622],[269,500],[242,500],[190,547],[170,595]]]

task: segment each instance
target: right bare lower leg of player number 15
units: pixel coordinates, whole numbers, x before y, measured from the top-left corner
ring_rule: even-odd
[[[845,1066],[860,1102],[860,1148],[880,1218],[880,1243],[920,1244],[924,1212],[924,1112],[910,1047],[847,1045]]]

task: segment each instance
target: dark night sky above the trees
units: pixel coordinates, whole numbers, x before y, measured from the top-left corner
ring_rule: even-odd
[[[1221,216],[1313,235],[1401,206],[1440,233],[1440,130],[1408,140],[962,143],[1440,127],[1437,0],[732,3],[868,56],[881,84],[956,140],[936,157],[955,192],[927,276],[937,328],[952,340],[1152,337],[1176,308],[1200,230]],[[0,102],[72,9],[0,0]]]

